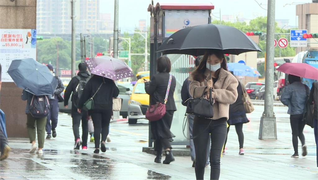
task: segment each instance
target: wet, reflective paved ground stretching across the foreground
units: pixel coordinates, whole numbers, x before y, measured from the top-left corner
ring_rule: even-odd
[[[220,179],[318,179],[315,163],[313,129],[305,127],[308,156],[290,158],[293,154],[287,107],[274,107],[278,140],[259,140],[259,120],[263,106],[255,106],[248,115],[251,120],[243,127],[245,155],[239,156],[235,128],[231,127],[227,154],[221,159]],[[195,179],[190,157],[176,157],[169,164],[157,164],[154,155],[142,152],[148,145],[148,122],[128,125],[127,121],[111,123],[111,143],[106,153],[73,150],[71,117],[59,115],[58,137],[45,141],[43,156],[29,154],[25,138],[10,138],[12,153],[0,163],[3,179]],[[177,148],[177,146],[175,147]],[[300,149],[300,148],[299,148]],[[301,149],[300,149],[301,150]],[[209,179],[210,167],[205,178]]]

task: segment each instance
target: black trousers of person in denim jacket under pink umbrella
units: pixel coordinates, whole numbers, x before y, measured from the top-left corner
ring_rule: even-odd
[[[305,127],[303,114],[290,115],[290,126],[292,127],[294,151],[296,154],[298,154],[298,137],[301,141],[301,144],[305,144],[305,136],[302,133]]]

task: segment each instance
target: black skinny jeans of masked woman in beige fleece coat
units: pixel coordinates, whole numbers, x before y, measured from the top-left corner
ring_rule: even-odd
[[[211,122],[211,123],[210,123]],[[210,123],[210,125],[209,125]],[[209,127],[208,127],[209,125]],[[194,118],[193,123],[193,143],[196,150],[196,177],[204,179],[204,169],[206,164],[206,151],[211,133],[210,150],[210,179],[219,179],[220,177],[220,158],[222,148],[226,138],[226,118],[218,120],[209,120],[200,117]]]

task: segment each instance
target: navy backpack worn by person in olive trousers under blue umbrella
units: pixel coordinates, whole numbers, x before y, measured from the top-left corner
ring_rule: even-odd
[[[46,95],[35,96],[33,95],[30,109],[31,115],[35,118],[44,118],[47,117],[50,111],[50,102],[49,98]]]

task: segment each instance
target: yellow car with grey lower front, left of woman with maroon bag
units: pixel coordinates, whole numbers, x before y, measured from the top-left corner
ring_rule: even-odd
[[[143,77],[137,81],[128,101],[129,124],[135,124],[138,119],[146,118],[146,111],[149,107],[149,95],[145,91],[143,79],[149,80],[149,77]]]

